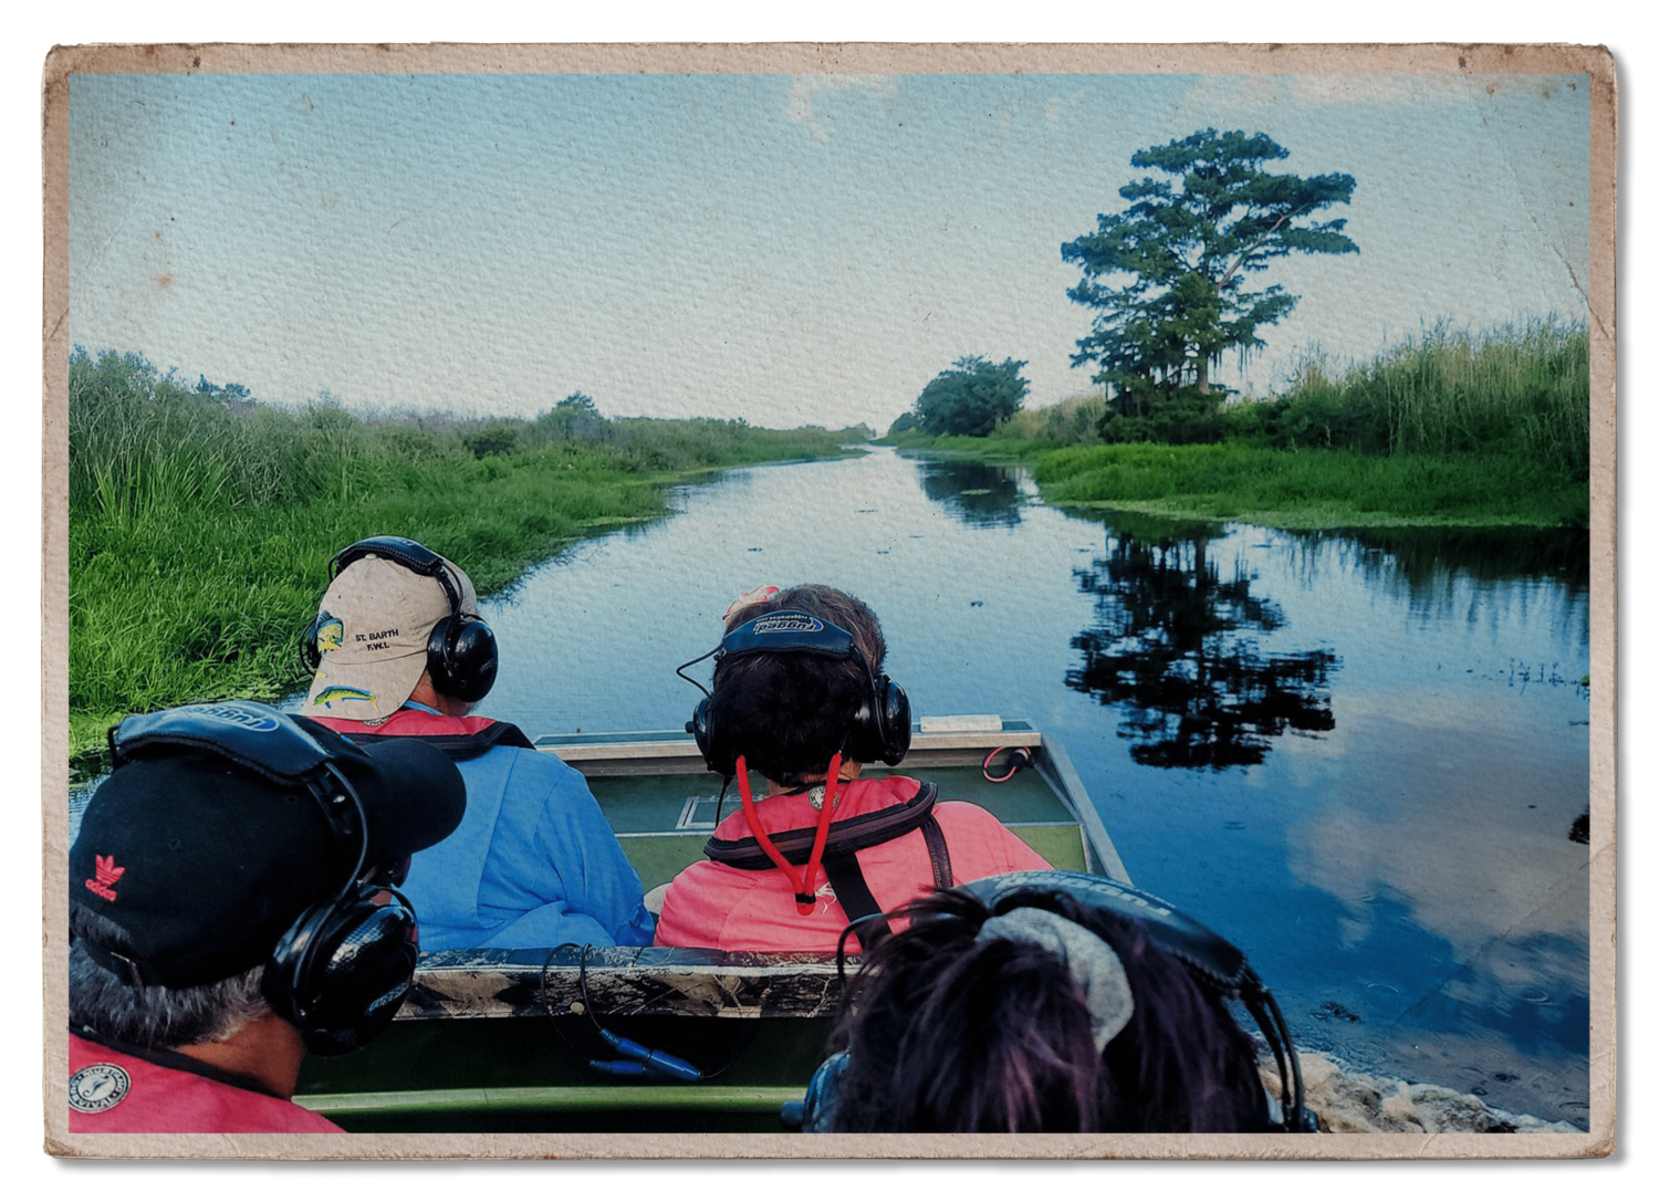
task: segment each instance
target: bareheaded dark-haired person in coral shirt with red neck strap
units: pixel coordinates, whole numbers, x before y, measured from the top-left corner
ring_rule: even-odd
[[[1017,869],[1048,867],[992,814],[939,801],[898,764],[911,738],[904,690],[881,675],[868,605],[828,585],[742,597],[725,615],[713,693],[693,728],[708,766],[743,799],[669,884],[657,942],[752,952],[833,952],[851,918],[879,940],[883,910]],[[703,657],[707,658],[707,657]],[[695,663],[695,660],[693,660]],[[682,665],[682,671],[685,666]],[[768,796],[750,794],[750,771]]]

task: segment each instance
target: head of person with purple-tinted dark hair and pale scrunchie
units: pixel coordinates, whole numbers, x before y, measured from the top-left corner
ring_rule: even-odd
[[[901,914],[841,996],[810,1131],[1279,1129],[1249,1036],[1135,918],[1042,889]]]

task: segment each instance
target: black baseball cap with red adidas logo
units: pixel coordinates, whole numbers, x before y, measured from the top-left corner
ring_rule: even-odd
[[[108,950],[148,985],[262,963],[358,862],[400,864],[466,806],[453,761],[420,739],[357,746],[254,701],[128,718],[111,749],[70,849],[70,895],[121,928],[126,947]]]

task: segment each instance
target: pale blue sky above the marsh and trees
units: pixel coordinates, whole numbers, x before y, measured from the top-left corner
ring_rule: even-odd
[[[1029,405],[1090,310],[1060,244],[1130,156],[1258,129],[1347,172],[1359,255],[1241,380],[1447,317],[1588,315],[1573,75],[71,75],[73,343],[265,401],[879,429],[962,355]]]

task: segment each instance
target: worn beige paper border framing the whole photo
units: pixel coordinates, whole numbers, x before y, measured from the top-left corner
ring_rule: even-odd
[[[1589,76],[1591,274],[1591,1058],[1589,1132],[1576,1136],[85,1136],[66,1131],[68,761],[68,80],[75,73],[1583,73]],[[1047,45],[1047,43],[602,43],[246,45],[53,48],[41,70],[41,1106],[43,1151],[63,1159],[211,1161],[828,1159],[984,1157],[1345,1161],[1608,1157],[1614,1149],[1616,410],[1614,224],[1618,81],[1584,45]],[[139,348],[134,348],[139,350]],[[1618,1149],[1627,1156],[1627,1149]],[[257,1164],[249,1164],[257,1172]]]

